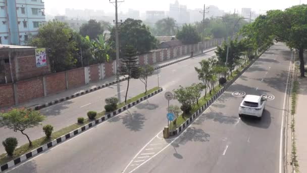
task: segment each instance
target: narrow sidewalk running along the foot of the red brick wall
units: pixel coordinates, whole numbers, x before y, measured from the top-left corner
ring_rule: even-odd
[[[210,49],[206,49],[206,50],[204,50],[204,53],[213,51],[215,49],[216,49],[216,47],[210,48]],[[194,57],[198,56],[198,55],[201,55],[201,53],[197,54],[197,55],[194,55]],[[167,60],[167,61],[163,61],[163,62],[160,62],[160,63],[156,63],[156,64],[154,64],[154,66],[155,67],[156,66],[162,66],[162,65],[165,65],[165,64],[169,64],[171,62],[176,62],[178,60],[185,59],[187,57],[190,57],[190,56],[184,56],[184,57],[180,57],[180,58],[173,58],[171,60]],[[124,78],[124,76],[120,76],[120,79],[122,79],[122,78]],[[60,93],[57,93],[57,94],[52,94],[52,95],[48,95],[46,97],[33,99],[31,101],[28,101],[28,102],[25,102],[25,103],[21,103],[19,106],[14,106],[14,107],[35,107],[35,106],[38,106],[38,105],[41,105],[41,104],[45,104],[45,103],[48,103],[48,102],[59,100],[59,99],[62,99],[62,98],[65,98],[65,97],[68,97],[68,96],[71,96],[71,95],[75,95],[75,94],[78,94],[78,93],[81,93],[81,92],[85,92],[86,90],[90,90],[90,89],[96,88],[97,86],[101,86],[103,84],[106,84],[106,83],[109,83],[109,82],[112,82],[112,81],[115,81],[115,80],[116,80],[116,75],[114,75],[112,77],[108,77],[108,78],[106,78],[104,80],[99,80],[99,81],[96,81],[96,82],[90,82],[87,85],[79,86],[77,88],[69,89],[69,90],[66,90],[66,91],[63,91],[63,92],[60,92]],[[4,108],[4,109],[6,109],[6,108]]]

